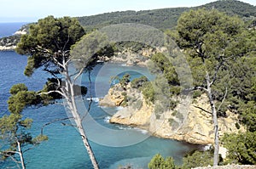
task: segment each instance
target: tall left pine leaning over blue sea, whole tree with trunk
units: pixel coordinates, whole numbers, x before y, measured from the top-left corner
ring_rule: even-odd
[[[95,38],[95,34],[83,36],[84,29],[79,25],[78,20],[70,17],[55,19],[53,16],[48,16],[30,26],[29,34],[21,37],[16,52],[29,56],[25,70],[26,76],[32,76],[34,70],[42,68],[55,78],[56,82],[52,82],[54,88],[49,92],[39,94],[59,93],[64,98],[90,156],[90,161],[94,168],[98,168],[82,125],[83,117],[77,108],[74,86],[79,76],[85,70],[90,70],[88,62],[91,63],[93,59],[91,56],[94,56],[94,51],[97,51],[95,49],[100,49],[97,48],[97,44],[101,43],[101,39]],[[84,41],[77,43],[76,48],[86,51],[87,55],[83,59],[76,51],[71,54],[72,46],[79,42],[81,37]],[[70,65],[73,65],[74,69],[69,69]],[[62,82],[65,85],[61,85]]]

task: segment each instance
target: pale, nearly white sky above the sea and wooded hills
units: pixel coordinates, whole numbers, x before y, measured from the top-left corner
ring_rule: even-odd
[[[125,10],[195,7],[216,0],[0,0],[0,22],[33,22],[48,15],[88,16]],[[256,6],[256,0],[240,0]]]

